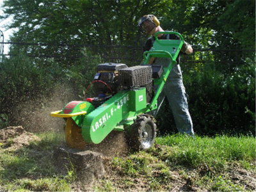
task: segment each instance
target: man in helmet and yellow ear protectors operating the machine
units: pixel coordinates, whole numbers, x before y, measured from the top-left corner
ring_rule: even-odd
[[[145,42],[143,47],[144,51],[150,50],[155,41],[154,35],[159,31],[164,31],[160,26],[159,20],[157,20],[154,15],[144,15],[140,18],[138,26],[143,26],[147,34],[151,37]],[[138,27],[137,26],[137,27]],[[157,34],[159,40],[179,40],[179,36],[175,34]],[[192,54],[193,48],[188,43],[184,42],[181,48],[180,54]],[[162,94],[159,96],[157,102],[158,107],[163,103],[164,97],[168,98],[170,107],[172,108],[173,116],[175,119],[175,124],[180,133],[186,133],[188,135],[194,136],[193,123],[188,110],[188,101],[186,96],[185,87],[182,81],[182,73],[180,70],[180,54],[177,57],[175,64],[168,76],[166,83],[164,85]],[[161,64],[164,67],[168,66],[170,59],[166,58],[150,58],[149,64]],[[156,116],[159,108],[154,112]]]

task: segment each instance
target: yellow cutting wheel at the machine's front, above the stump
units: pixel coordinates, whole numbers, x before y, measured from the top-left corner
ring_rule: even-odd
[[[69,147],[75,149],[83,149],[85,147],[86,142],[84,142],[81,132],[82,130],[78,128],[76,122],[69,117],[65,127],[65,138]]]

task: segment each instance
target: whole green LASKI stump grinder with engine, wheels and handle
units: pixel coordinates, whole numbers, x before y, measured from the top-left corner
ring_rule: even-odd
[[[159,33],[176,34],[180,40],[159,40]],[[154,144],[156,124],[150,114],[159,107],[157,98],[184,43],[179,33],[170,31],[158,32],[155,38],[151,50],[143,53],[142,65],[99,64],[92,82],[95,96],[86,98],[84,94],[84,101],[71,101],[62,110],[51,112],[52,117],[66,121],[69,147],[99,144],[113,130],[125,131],[132,149],[148,149]],[[170,64],[149,65],[151,57],[170,58]]]

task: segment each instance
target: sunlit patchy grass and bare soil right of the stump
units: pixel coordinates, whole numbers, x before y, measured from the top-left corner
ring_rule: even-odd
[[[105,179],[113,191],[255,191],[255,146],[250,136],[157,137],[148,151],[113,158]],[[99,181],[95,191],[104,188]]]

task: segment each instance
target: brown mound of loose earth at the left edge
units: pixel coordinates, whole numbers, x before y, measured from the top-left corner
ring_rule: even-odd
[[[28,133],[22,126],[11,126],[0,130],[0,144],[3,149],[17,150],[35,141],[40,141],[40,138]]]

